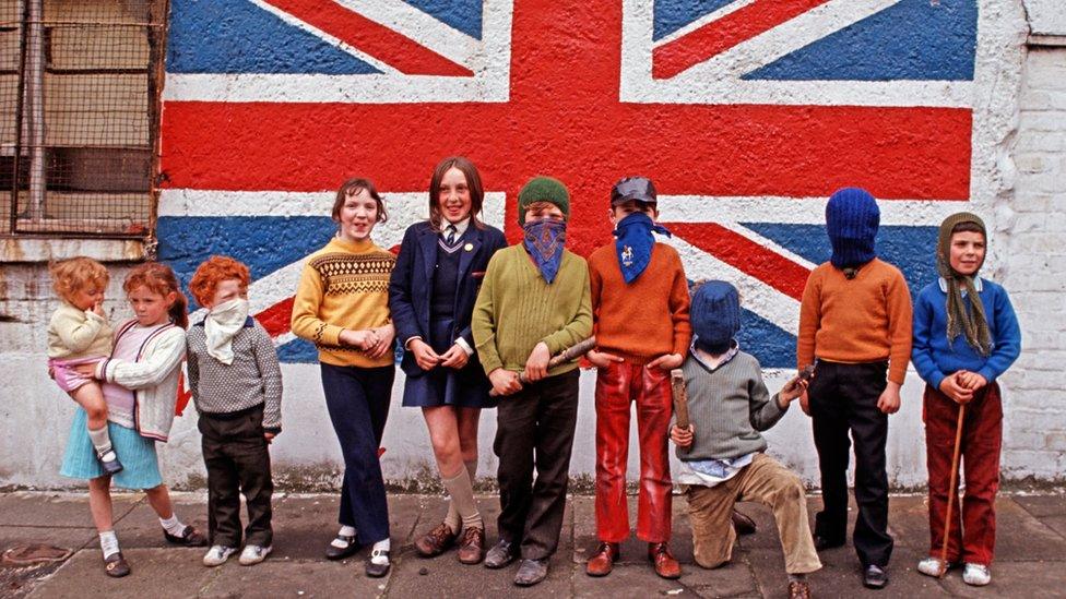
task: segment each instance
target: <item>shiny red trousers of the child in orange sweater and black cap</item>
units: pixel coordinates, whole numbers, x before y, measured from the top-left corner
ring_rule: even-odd
[[[670,373],[628,360],[612,362],[596,374],[596,534],[607,542],[629,537],[626,462],[631,402],[637,402],[640,439],[637,537],[665,542],[670,540],[673,488],[666,453],[673,412]]]

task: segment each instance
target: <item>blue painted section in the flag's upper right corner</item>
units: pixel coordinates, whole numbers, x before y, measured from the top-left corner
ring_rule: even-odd
[[[972,81],[976,45],[976,0],[902,0],[742,79]]]

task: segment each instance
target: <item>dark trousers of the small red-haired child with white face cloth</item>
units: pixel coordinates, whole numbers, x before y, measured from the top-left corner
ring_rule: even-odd
[[[211,544],[240,547],[240,495],[248,526],[245,541],[268,547],[270,526],[270,452],[263,436],[263,406],[228,415],[200,414],[203,464],[208,468],[208,530]]]

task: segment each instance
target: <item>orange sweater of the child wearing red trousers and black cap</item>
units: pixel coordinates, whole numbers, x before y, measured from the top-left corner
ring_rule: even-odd
[[[637,361],[688,354],[688,281],[677,250],[655,243],[648,268],[626,285],[612,242],[589,256],[589,279],[600,350]]]

